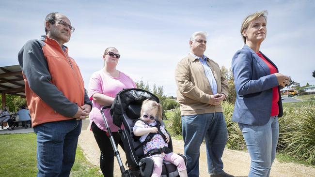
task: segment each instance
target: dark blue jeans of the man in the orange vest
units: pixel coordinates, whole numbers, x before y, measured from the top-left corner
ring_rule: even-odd
[[[34,127],[37,134],[37,177],[69,177],[81,126],[81,120],[69,119]]]

